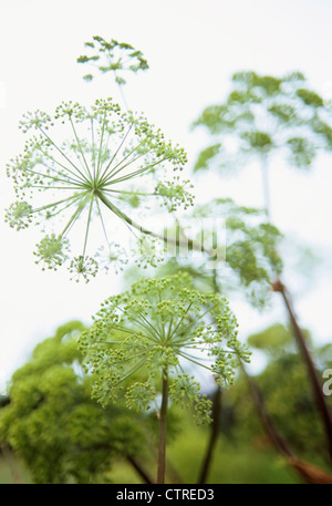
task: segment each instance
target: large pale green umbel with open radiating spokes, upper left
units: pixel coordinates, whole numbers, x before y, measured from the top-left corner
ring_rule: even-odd
[[[87,281],[98,267],[94,254],[86,254],[94,217],[100,219],[100,230],[110,245],[105,210],[129,229],[154,235],[134,221],[126,208],[142,210],[145,203],[152,207],[153,199],[168,210],[193,204],[185,188],[189,182],[180,183],[177,175],[170,175],[183,169],[184,149],[165,142],[160,130],[145,117],[123,113],[111,99],[97,100],[91,109],[62,103],[54,118],[41,111],[28,113],[21,127],[23,132],[33,128],[37,135],[7,166],[18,200],[8,208],[6,220],[18,230],[32,221],[44,233],[49,225],[55,225],[35,251],[37,262],[43,267],[58,268],[69,258],[68,234],[79,221],[82,224],[80,218],[82,249],[71,259],[70,270]]]

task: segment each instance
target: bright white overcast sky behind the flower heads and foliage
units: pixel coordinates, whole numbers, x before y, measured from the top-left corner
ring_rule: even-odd
[[[6,163],[20,153],[22,113],[53,111],[63,100],[93,102],[117,91],[106,78],[92,84],[75,63],[93,35],[128,42],[148,60],[151,70],[133,78],[127,102],[144,111],[169,138],[183,145],[190,163],[206,137],[189,132],[190,122],[222,100],[235,71],[281,75],[300,70],[321,92],[332,90],[332,3],[329,0],[0,0],[0,214],[13,200]],[[331,241],[331,158],[310,175],[273,167],[276,224],[317,246],[329,261]],[[198,198],[229,196],[259,205],[259,174],[196,179]],[[68,272],[42,272],[33,262],[33,229],[17,233],[0,220],[0,390],[40,340],[69,319],[89,322],[100,302],[117,289],[117,279],[100,275],[84,285]],[[300,321],[318,341],[329,341],[331,268],[297,295]],[[302,292],[300,292],[302,291]],[[284,321],[276,298],[273,311],[232,304],[242,335],[276,318]]]

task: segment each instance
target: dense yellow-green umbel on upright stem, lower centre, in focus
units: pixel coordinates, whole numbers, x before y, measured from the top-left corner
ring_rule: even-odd
[[[131,409],[148,410],[167,375],[169,399],[208,421],[210,402],[190,365],[209,371],[218,385],[231,384],[239,360],[249,361],[237,329],[227,300],[197,291],[189,275],[141,279],[105,300],[81,337],[93,395],[103,405],[121,396]]]

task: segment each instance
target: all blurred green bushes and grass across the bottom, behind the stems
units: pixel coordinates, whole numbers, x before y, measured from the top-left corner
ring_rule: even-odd
[[[156,416],[128,416],[122,405],[102,409],[91,400],[92,378],[83,374],[76,347],[81,330],[80,322],[61,327],[13,374],[9,395],[1,400],[0,440],[10,444],[35,483],[144,483],[127,456],[136,456],[154,475]],[[298,456],[329,468],[324,435],[289,329],[274,324],[250,335],[248,343],[267,357],[253,379],[277,430]],[[320,370],[331,366],[331,345],[315,352]],[[207,483],[299,483],[269,441],[243,374],[221,399]],[[208,427],[197,426],[188,410],[170,406],[167,483],[197,483],[208,438]],[[0,456],[0,483],[10,483],[4,464]],[[24,468],[23,479],[29,482]]]

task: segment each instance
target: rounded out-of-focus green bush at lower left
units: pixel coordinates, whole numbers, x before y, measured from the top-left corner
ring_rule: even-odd
[[[72,321],[38,344],[13,374],[0,410],[0,440],[35,483],[104,482],[114,457],[141,455],[146,446],[142,417],[121,404],[104,410],[91,400],[92,378],[83,374],[77,347],[82,330]],[[156,423],[147,425],[151,438]]]

